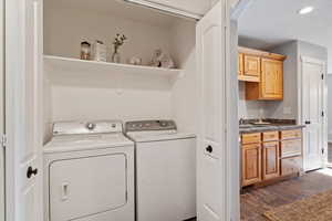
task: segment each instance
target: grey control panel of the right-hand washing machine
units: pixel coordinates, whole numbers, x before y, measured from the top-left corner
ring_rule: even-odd
[[[138,120],[127,122],[126,131],[176,130],[174,120]]]

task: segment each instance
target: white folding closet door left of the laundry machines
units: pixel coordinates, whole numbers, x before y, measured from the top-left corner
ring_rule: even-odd
[[[8,221],[42,221],[42,0],[6,1]]]

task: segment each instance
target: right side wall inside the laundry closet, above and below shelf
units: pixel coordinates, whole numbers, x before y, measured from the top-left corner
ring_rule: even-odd
[[[184,77],[172,90],[173,116],[179,130],[196,133],[196,23],[183,21],[172,30],[172,52],[175,61],[184,69]]]

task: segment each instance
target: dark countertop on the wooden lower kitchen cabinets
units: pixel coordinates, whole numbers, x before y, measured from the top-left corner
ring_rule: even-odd
[[[240,134],[262,133],[272,130],[291,130],[304,128],[304,125],[270,124],[270,125],[240,125]]]

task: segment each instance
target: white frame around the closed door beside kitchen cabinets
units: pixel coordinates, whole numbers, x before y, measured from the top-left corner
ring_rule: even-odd
[[[298,109],[298,123],[303,124],[305,122],[304,116],[303,116],[303,90],[304,90],[304,78],[303,78],[303,65],[305,63],[311,63],[311,64],[318,64],[323,66],[323,88],[322,88],[322,110],[324,112],[324,117],[322,119],[322,145],[324,149],[324,155],[322,156],[322,164],[323,168],[328,166],[328,67],[326,67],[326,62],[315,59],[315,57],[310,57],[310,56],[300,56],[300,65],[299,65],[299,72],[298,72],[298,102],[299,102],[299,109]],[[302,145],[303,145],[303,169],[305,171],[305,146],[303,140],[305,139],[305,133],[303,133],[303,139],[302,139]]]

